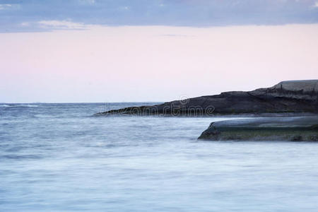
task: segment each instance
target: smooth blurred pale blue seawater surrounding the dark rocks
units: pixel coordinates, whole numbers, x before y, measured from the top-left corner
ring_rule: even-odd
[[[224,118],[101,110],[0,104],[0,211],[318,211],[318,143],[197,141]]]

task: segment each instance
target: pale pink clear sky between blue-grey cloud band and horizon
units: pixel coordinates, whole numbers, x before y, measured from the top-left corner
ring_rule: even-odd
[[[0,33],[0,102],[142,102],[318,78],[318,24]]]

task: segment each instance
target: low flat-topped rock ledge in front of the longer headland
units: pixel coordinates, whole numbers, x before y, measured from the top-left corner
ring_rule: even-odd
[[[318,116],[212,122],[198,139],[210,141],[318,141]]]

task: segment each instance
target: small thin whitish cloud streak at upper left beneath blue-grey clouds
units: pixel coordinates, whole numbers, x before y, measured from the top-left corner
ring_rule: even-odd
[[[49,29],[83,30],[87,28],[87,25],[83,23],[75,23],[68,20],[41,20],[37,23],[40,28]]]

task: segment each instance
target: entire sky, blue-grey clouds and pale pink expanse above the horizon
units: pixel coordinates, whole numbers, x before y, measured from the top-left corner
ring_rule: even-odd
[[[0,102],[144,102],[318,78],[318,1],[0,0]]]

